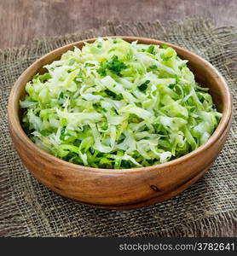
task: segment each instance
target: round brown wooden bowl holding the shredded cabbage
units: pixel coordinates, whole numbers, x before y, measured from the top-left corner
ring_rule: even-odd
[[[210,168],[228,136],[232,115],[231,95],[228,85],[217,69],[187,49],[148,38],[112,38],[124,38],[128,42],[137,40],[140,44],[171,45],[182,59],[188,60],[188,67],[194,72],[195,79],[210,88],[218,111],[223,113],[217,130],[205,144],[189,154],[158,166],[111,170],[78,166],[60,160],[32,143],[20,125],[19,100],[26,95],[26,83],[36,73],[43,73],[44,65],[59,59],[74,46],[82,48],[84,42],[94,42],[95,38],[55,49],[34,62],[20,75],[9,96],[9,130],[14,147],[28,170],[56,193],[93,207],[146,207],[181,193]]]

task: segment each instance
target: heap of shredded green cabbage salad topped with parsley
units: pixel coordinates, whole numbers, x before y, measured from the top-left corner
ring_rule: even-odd
[[[85,43],[26,84],[22,126],[38,147],[78,165],[174,160],[205,143],[222,116],[187,62],[167,45]]]

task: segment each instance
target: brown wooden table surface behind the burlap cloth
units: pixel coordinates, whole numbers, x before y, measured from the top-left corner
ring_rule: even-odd
[[[205,16],[237,26],[237,0],[0,0],[0,49],[33,38],[98,27],[107,20],[174,20]]]

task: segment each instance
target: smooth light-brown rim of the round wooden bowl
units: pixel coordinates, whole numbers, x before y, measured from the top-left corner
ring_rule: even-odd
[[[18,113],[16,113],[14,111],[14,107],[16,107],[16,105],[18,104],[15,97],[18,95],[17,94],[18,89],[20,89],[22,86],[21,80],[25,77],[25,75],[26,75],[26,73],[28,73],[28,71],[30,71],[31,69],[33,69],[34,67],[37,66],[38,62],[41,63],[49,55],[61,52],[63,49],[65,49],[65,52],[66,52],[66,50],[68,50],[67,48],[73,47],[78,44],[84,44],[84,42],[87,42],[87,43],[94,42],[96,39],[96,38],[88,38],[88,39],[80,40],[77,42],[73,42],[71,44],[66,44],[60,48],[50,51],[46,55],[43,55],[37,61],[34,61],[29,67],[27,67],[26,70],[23,73],[21,73],[20,77],[15,81],[14,86],[12,87],[12,89],[10,91],[10,95],[9,95],[9,104],[8,104],[9,125],[10,125],[10,123],[12,125],[14,125],[14,130],[16,130],[18,132],[19,136],[22,138],[22,140],[25,141],[26,144],[28,144],[29,148],[31,148],[32,150],[36,150],[38,152],[38,154],[42,154],[42,156],[44,158],[51,159],[52,162],[57,161],[59,164],[61,164],[63,166],[68,166],[69,169],[73,169],[73,171],[75,171],[75,172],[97,172],[97,173],[104,173],[104,174],[106,174],[106,173],[111,174],[113,172],[113,174],[131,174],[131,173],[147,172],[147,171],[151,172],[154,170],[157,171],[157,170],[162,170],[164,168],[169,168],[170,166],[176,166],[178,164],[181,164],[183,160],[191,159],[195,155],[205,151],[205,149],[210,148],[211,145],[213,145],[214,143],[217,142],[217,139],[222,136],[223,131],[225,131],[227,129],[228,123],[231,121],[233,106],[232,106],[232,96],[230,94],[230,91],[228,89],[228,85],[227,85],[225,79],[223,78],[222,74],[219,73],[217,71],[217,69],[211,65],[210,62],[205,61],[205,59],[203,59],[199,55],[194,54],[193,52],[189,51],[188,49],[184,49],[176,44],[171,44],[171,43],[156,40],[153,38],[142,38],[142,37],[133,37],[133,36],[105,36],[105,37],[101,37],[101,38],[104,38],[104,39],[123,38],[124,40],[128,40],[130,42],[143,40],[143,41],[149,41],[150,42],[149,44],[169,45],[175,49],[185,52],[189,56],[191,55],[191,56],[195,57],[197,60],[203,62],[206,67],[210,67],[211,71],[213,73],[216,73],[217,78],[219,79],[219,83],[222,84],[225,97],[227,98],[227,102],[225,102],[224,108],[223,108],[223,116],[222,116],[219,124],[217,125],[217,129],[212,133],[211,137],[204,144],[199,146],[199,148],[196,148],[195,150],[189,152],[188,154],[184,154],[175,160],[171,160],[171,161],[165,162],[163,164],[154,165],[154,166],[144,166],[144,167],[142,166],[142,167],[135,167],[135,168],[128,168],[128,169],[105,169],[105,168],[95,168],[95,167],[90,167],[90,166],[80,166],[77,164],[70,163],[66,160],[61,160],[60,158],[57,158],[54,155],[43,151],[43,149],[38,148],[38,146],[35,143],[33,143],[29,137],[27,137],[25,131],[23,130],[22,126],[20,125],[20,119],[19,119]],[[146,43],[144,43],[144,44],[146,44]],[[25,86],[26,86],[26,84],[25,84]]]

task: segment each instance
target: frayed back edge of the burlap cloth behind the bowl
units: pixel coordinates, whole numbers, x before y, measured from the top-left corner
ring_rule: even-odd
[[[222,26],[216,28],[210,20],[205,18],[188,18],[186,20],[170,20],[162,24],[159,20],[154,22],[137,22],[135,24],[121,23],[115,25],[113,21],[107,21],[105,26],[94,29],[91,28],[86,32],[75,32],[63,36],[37,38],[31,44],[21,45],[17,48],[0,49],[0,61],[9,62],[24,59],[28,55],[41,55],[40,49],[46,44],[49,50],[61,47],[63,44],[70,44],[73,41],[79,41],[87,38],[106,37],[106,36],[137,36],[157,38],[157,35],[169,36],[176,32],[188,36],[188,34],[202,31],[211,32],[216,35],[216,43],[223,46],[226,50],[226,59],[223,65],[227,68],[228,73],[236,74],[237,61],[237,32],[234,26]],[[147,36],[149,35],[149,36]]]

